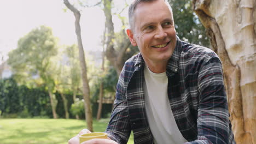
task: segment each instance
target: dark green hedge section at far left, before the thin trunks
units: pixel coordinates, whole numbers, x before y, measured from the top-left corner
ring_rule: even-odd
[[[4,117],[14,113],[19,113],[20,117],[51,114],[48,93],[42,87],[18,86],[13,78],[1,80],[0,83],[0,110]]]

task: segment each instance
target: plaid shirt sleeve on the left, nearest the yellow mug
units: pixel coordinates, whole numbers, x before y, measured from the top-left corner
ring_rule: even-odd
[[[124,71],[125,70],[123,68],[119,76],[114,101],[114,109],[106,129],[108,137],[120,144],[127,143],[131,134],[130,118],[125,97]]]

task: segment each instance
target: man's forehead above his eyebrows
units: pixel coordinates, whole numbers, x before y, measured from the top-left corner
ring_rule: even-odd
[[[147,22],[158,22],[161,19],[172,19],[170,5],[165,1],[139,3],[134,10],[135,27]]]

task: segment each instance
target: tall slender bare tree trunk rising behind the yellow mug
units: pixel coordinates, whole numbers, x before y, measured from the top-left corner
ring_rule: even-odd
[[[88,129],[93,132],[92,128],[92,111],[90,104],[90,88],[87,78],[87,68],[84,56],[84,49],[81,38],[81,27],[80,27],[80,11],[77,10],[73,5],[71,5],[68,0],[63,0],[64,4],[69,10],[74,13],[75,16],[75,33],[77,34],[78,49],[79,49],[79,61],[80,67],[82,69],[82,80],[83,80],[83,97],[84,97],[84,108],[85,108],[85,118],[87,122]]]

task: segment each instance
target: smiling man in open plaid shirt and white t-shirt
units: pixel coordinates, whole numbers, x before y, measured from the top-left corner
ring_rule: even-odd
[[[235,143],[216,53],[176,37],[164,0],[136,0],[129,22],[127,35],[140,53],[120,74],[110,140],[85,143],[127,143],[131,130],[135,143]]]

